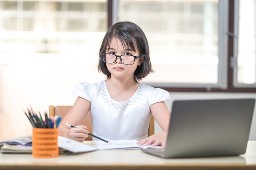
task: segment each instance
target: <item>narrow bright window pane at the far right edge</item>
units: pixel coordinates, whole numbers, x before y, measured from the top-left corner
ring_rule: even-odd
[[[256,1],[237,0],[234,30],[234,86],[256,87]]]

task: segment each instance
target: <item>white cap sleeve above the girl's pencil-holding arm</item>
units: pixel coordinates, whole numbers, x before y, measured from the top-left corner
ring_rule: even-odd
[[[91,90],[88,82],[81,82],[74,86],[72,93],[91,102]]]

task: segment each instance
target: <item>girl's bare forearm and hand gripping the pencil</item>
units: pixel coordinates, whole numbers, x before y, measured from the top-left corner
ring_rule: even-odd
[[[86,99],[78,97],[72,108],[68,111],[65,117],[63,117],[58,127],[59,135],[83,142],[85,138],[88,137],[89,132],[86,125],[83,126],[80,124],[88,114],[89,110],[90,102]],[[76,128],[70,128],[66,126],[66,123],[76,126]]]

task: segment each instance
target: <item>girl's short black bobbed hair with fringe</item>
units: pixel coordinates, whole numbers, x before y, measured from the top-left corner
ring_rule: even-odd
[[[101,57],[101,53],[106,53],[106,49],[109,48],[110,42],[113,38],[117,38],[123,44],[123,46],[128,46],[130,49],[139,52],[139,55],[144,56],[144,60],[140,66],[137,66],[134,79],[139,81],[146,77],[149,73],[153,72],[152,65],[149,57],[149,47],[148,40],[145,33],[141,28],[128,21],[117,22],[113,24],[105,34],[102,40],[101,48],[99,50],[99,61],[98,61],[98,71],[107,75],[108,78],[111,77],[111,73],[108,71],[106,63]]]

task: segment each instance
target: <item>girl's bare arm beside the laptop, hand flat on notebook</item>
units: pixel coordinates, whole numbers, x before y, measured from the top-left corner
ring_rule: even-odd
[[[156,133],[147,137],[146,139],[141,139],[137,144],[141,145],[150,145],[152,146],[166,146],[167,133],[169,128],[169,122],[171,118],[171,113],[166,107],[164,102],[158,102],[150,106],[150,112],[153,115],[154,119],[159,124],[162,132]]]

